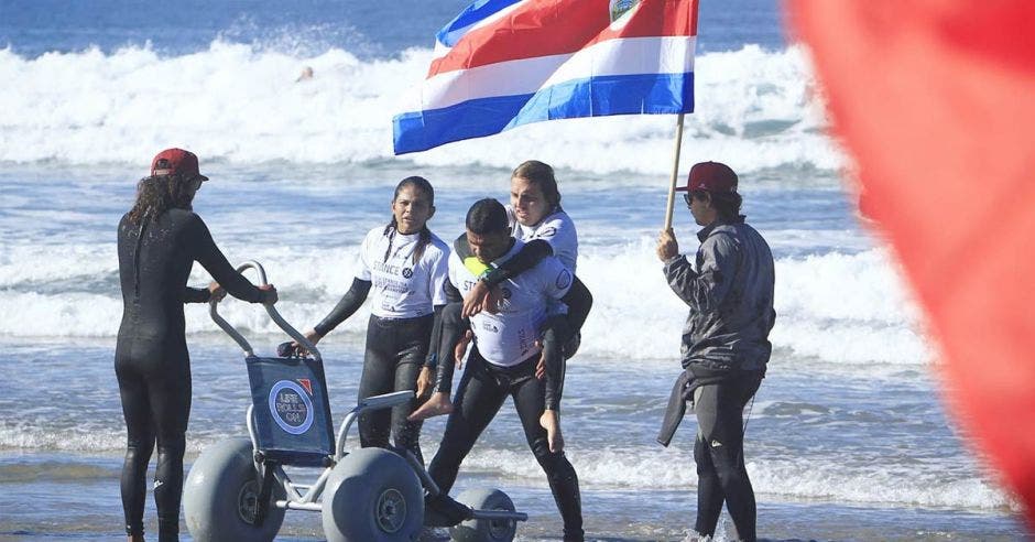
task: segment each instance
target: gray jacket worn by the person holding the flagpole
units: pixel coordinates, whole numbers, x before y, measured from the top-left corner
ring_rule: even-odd
[[[764,371],[776,319],[772,251],[743,216],[712,224],[697,237],[696,265],[685,256],[665,262],[668,285],[690,307],[683,327],[683,367]]]

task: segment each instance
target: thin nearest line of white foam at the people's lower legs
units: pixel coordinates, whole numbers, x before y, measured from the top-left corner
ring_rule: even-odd
[[[198,454],[224,437],[221,433],[199,435],[194,432],[189,435],[187,451]],[[107,453],[119,452],[124,445],[121,431],[0,427],[0,448]],[[426,452],[431,453],[431,447]],[[571,443],[566,452],[584,486],[689,489],[697,484],[691,449],[676,446],[589,449]],[[544,480],[541,467],[526,449],[478,447],[462,468],[503,478]],[[991,481],[981,477],[946,476],[936,466],[874,464],[849,469],[836,457],[766,458],[749,462],[748,473],[755,491],[763,498],[769,495],[862,505],[1020,509],[1016,501]]]

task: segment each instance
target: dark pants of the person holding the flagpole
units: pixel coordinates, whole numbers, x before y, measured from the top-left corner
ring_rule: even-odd
[[[713,535],[722,502],[741,540],[755,540],[755,501],[744,468],[744,405],[762,383],[761,372],[744,372],[729,381],[701,386],[694,394],[697,414],[697,524]]]

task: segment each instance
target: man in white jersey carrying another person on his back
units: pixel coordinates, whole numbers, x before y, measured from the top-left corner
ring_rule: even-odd
[[[471,252],[482,264],[505,262],[524,246],[523,241],[511,236],[506,209],[495,199],[475,203],[467,213],[466,227]],[[469,293],[477,282],[478,277],[458,256],[449,258],[447,289],[451,299],[459,301],[460,295]],[[586,321],[592,296],[581,281],[554,257],[544,258],[531,270],[509,279],[501,290],[494,313],[482,311],[465,321],[465,325],[470,326],[475,344],[428,474],[443,492],[448,494],[460,463],[510,395],[529,447],[546,473],[564,520],[564,539],[582,540],[578,476],[563,451],[551,449],[546,430],[541,424],[545,411],[545,384],[535,377],[542,348],[536,337],[553,301],[559,300],[567,305],[567,328],[574,333]],[[451,361],[438,364],[439,381],[446,372],[451,377]],[[442,503],[433,498],[428,505],[439,510]]]

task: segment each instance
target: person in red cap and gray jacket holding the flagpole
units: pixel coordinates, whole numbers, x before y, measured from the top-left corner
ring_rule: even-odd
[[[744,224],[737,174],[701,162],[690,169],[686,206],[704,229],[695,264],[662,231],[657,257],[668,285],[690,307],[683,328],[684,372],[673,389],[657,441],[667,446],[690,402],[697,414],[695,530],[713,536],[726,502],[740,540],[755,540],[755,501],[743,454],[743,409],[754,397],[773,347],[773,254]]]

